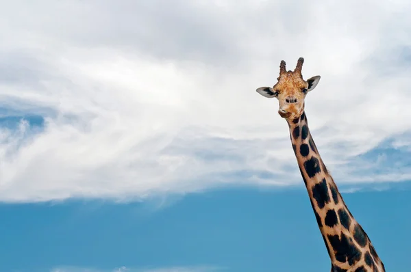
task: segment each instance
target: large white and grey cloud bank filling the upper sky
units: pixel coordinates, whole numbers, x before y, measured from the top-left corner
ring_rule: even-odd
[[[306,112],[334,179],[409,180],[406,166],[375,174],[384,162],[356,160],[363,177],[350,163],[411,129],[410,11],[408,1],[10,2],[0,116],[36,113],[45,127],[0,128],[0,200],[295,185],[287,125],[255,90],[300,56],[305,78],[321,74]]]

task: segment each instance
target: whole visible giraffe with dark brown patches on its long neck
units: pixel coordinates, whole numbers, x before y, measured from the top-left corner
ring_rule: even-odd
[[[288,123],[292,149],[331,260],[331,272],[384,272],[369,236],[347,208],[312,139],[304,99],[320,76],[303,80],[303,62],[300,57],[295,70],[287,71],[282,60],[277,83],[256,91],[279,100],[278,113]]]

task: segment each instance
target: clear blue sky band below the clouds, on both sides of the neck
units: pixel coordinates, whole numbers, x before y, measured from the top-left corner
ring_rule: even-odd
[[[410,196],[403,189],[344,195],[387,271],[408,267]],[[0,271],[329,269],[303,188],[227,189],[169,201],[3,204]]]

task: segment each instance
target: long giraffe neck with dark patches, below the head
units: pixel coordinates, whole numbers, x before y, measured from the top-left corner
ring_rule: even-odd
[[[308,128],[306,113],[288,121],[288,126],[301,176],[332,261],[332,271],[385,271],[368,235],[351,215],[327,171]],[[356,270],[362,267],[364,270]]]

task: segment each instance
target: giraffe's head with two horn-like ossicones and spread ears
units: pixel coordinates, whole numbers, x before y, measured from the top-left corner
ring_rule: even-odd
[[[259,87],[256,91],[267,98],[277,98],[279,101],[278,114],[282,118],[295,119],[304,111],[304,98],[319,83],[320,76],[303,80],[301,69],[304,59],[300,57],[294,71],[286,70],[286,62],[279,65],[279,77],[273,87]]]

